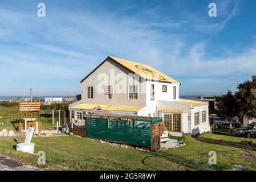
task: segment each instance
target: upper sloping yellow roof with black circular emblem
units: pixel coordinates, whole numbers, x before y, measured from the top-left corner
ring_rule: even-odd
[[[150,65],[125,60],[114,56],[109,57],[145,79],[180,84],[180,82],[178,82],[177,80],[174,80],[173,78],[169,77],[168,75],[165,75],[164,73],[158,71]]]

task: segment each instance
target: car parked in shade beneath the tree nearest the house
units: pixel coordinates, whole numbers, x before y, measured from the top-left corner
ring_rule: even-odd
[[[213,117],[213,123],[216,129],[230,129],[230,121],[228,121],[227,118]],[[241,123],[238,119],[232,119],[231,125],[232,129],[241,127]]]

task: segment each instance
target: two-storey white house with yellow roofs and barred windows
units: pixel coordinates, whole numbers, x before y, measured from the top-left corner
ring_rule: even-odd
[[[82,99],[69,105],[72,122],[100,112],[162,117],[173,133],[210,130],[208,102],[180,99],[180,82],[149,65],[108,56],[80,84]]]

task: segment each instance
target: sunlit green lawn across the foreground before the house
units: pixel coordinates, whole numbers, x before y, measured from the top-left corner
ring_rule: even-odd
[[[17,142],[24,137],[0,137],[0,153],[22,162],[36,165],[38,156],[15,151]],[[253,140],[230,136],[224,131],[206,133],[200,137],[186,135],[186,146],[156,152],[137,151],[111,146],[81,137],[34,137],[35,152],[46,153],[44,169],[54,170],[204,170],[208,164],[209,151],[217,152],[220,170],[232,169],[240,164],[253,167],[243,158],[246,153],[233,142]]]

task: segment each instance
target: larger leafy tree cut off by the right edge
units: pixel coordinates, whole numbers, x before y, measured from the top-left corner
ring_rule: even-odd
[[[246,80],[239,84],[235,93],[241,113],[249,118],[256,117],[256,75],[251,77],[252,80]]]

